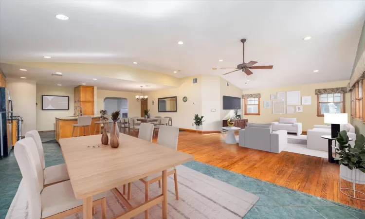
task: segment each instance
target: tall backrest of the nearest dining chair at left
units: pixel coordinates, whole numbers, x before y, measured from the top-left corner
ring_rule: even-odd
[[[40,219],[42,214],[40,193],[43,189],[43,169],[39,157],[38,160],[34,158],[35,155],[38,155],[36,143],[32,138],[19,140],[15,144],[14,155],[24,180],[27,196],[30,199],[28,201],[28,218]]]

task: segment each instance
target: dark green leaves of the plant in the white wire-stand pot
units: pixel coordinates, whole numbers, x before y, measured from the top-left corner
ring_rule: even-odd
[[[335,158],[338,164],[347,166],[349,169],[359,169],[365,173],[365,137],[360,135],[352,147],[348,144],[349,138],[345,130],[340,131],[336,137],[339,150],[336,153],[340,156]]]

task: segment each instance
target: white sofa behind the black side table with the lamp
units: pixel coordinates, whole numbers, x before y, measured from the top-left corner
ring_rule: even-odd
[[[356,140],[355,128],[351,124],[346,124],[340,125],[340,130],[347,131],[347,136],[353,139],[349,142],[353,146]],[[322,135],[331,135],[331,126],[314,125],[313,129],[309,129],[307,131],[307,148],[328,151],[328,140],[321,138]]]

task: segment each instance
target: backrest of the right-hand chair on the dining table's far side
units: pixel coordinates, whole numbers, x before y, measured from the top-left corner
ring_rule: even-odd
[[[173,126],[160,126],[157,144],[171,149],[178,149],[179,128]]]

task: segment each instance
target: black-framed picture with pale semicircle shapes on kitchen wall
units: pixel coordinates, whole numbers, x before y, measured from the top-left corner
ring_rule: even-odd
[[[70,110],[70,96],[42,95],[42,110]]]

